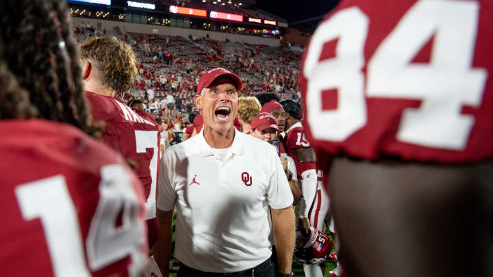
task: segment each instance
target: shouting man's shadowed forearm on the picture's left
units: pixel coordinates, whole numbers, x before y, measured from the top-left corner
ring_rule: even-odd
[[[169,261],[171,254],[171,237],[173,235],[173,211],[157,211],[157,221],[160,226],[159,239],[153,246],[153,256],[157,266],[161,270],[162,276],[169,274]]]

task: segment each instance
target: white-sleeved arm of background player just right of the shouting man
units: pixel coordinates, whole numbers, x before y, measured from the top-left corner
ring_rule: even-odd
[[[296,209],[300,218],[299,228],[308,231],[308,213],[315,199],[317,188],[316,155],[315,150],[311,147],[298,148],[294,150],[294,155],[299,161],[301,179],[303,180],[301,182],[301,195],[303,198],[300,201],[301,205]]]

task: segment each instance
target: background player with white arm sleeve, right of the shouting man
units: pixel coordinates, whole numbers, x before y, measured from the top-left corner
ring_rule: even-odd
[[[284,147],[288,155],[294,159],[303,196],[296,206],[298,228],[305,234],[309,234],[310,226],[323,230],[325,215],[329,211],[329,196],[323,189],[321,174],[318,176],[315,151],[305,137],[301,124],[301,105],[292,99],[283,100],[279,104],[286,118]],[[275,110],[278,109],[273,111]],[[323,276],[320,264],[305,263],[303,269],[306,276]]]

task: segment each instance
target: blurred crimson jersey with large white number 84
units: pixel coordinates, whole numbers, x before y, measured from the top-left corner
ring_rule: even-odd
[[[493,2],[343,0],[303,56],[307,138],[361,159],[492,157]]]

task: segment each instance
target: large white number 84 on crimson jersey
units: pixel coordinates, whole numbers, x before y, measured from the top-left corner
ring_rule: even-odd
[[[488,72],[472,68],[479,3],[421,0],[403,16],[368,62],[368,97],[421,99],[403,111],[396,140],[432,148],[462,150],[474,125],[462,106],[481,104]],[[341,10],[322,23],[304,63],[307,113],[318,140],[344,141],[366,124],[364,43],[368,16]],[[409,64],[435,34],[429,64]],[[318,62],[323,44],[339,38],[336,57]],[[327,78],[330,77],[330,78]],[[338,109],[323,111],[323,90],[338,89]],[[328,131],[329,130],[329,131]]]

